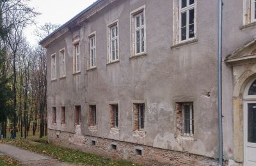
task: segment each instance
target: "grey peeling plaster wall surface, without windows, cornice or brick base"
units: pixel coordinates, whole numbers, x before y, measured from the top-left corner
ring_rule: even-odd
[[[223,58],[252,38],[253,29],[239,30],[243,24],[243,2],[225,0]],[[241,5],[240,5],[241,4]],[[130,12],[145,5],[147,56],[129,59]],[[83,24],[68,31],[47,48],[47,66],[51,54],[66,49],[67,77],[51,82],[47,70],[48,128],[75,133],[74,106],[81,105],[81,133],[174,151],[218,157],[217,118],[217,2],[196,2],[196,43],[170,49],[173,40],[173,2],[169,0],[120,0],[110,4]],[[216,6],[216,8],[212,7]],[[240,9],[241,8],[241,9]],[[159,10],[161,9],[161,10]],[[236,18],[230,19],[230,18]],[[107,63],[107,24],[118,19],[120,62]],[[87,71],[88,35],[96,32],[97,68]],[[236,35],[234,35],[236,34]],[[72,74],[72,40],[80,38],[81,73]],[[233,158],[232,70],[223,64],[224,157]],[[175,137],[175,102],[195,99],[195,140]],[[145,100],[147,107],[145,137],[133,136],[132,101]],[[118,132],[109,130],[109,103],[118,101]],[[97,105],[97,131],[91,132],[89,103]],[[51,107],[57,108],[57,126],[51,124]],[[61,126],[60,107],[66,107],[65,126]]]

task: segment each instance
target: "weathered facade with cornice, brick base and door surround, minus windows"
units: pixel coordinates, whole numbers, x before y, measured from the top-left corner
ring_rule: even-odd
[[[149,164],[145,158],[159,151],[159,163],[216,165],[218,158],[217,117],[217,1],[196,1],[196,37],[177,43],[177,5],[170,0],[97,1],[72,22],[42,41],[47,48],[47,66],[51,55],[66,51],[66,77],[51,80],[47,70],[47,111],[49,142],[108,155],[111,142],[122,145],[117,158]],[[255,27],[244,26],[243,1],[224,0],[223,59],[253,39]],[[147,52],[131,56],[131,12],[144,8]],[[108,62],[108,25],[118,20],[119,59]],[[176,31],[176,33],[175,33]],[[96,39],[96,68],[90,69],[88,36]],[[74,41],[80,43],[81,72],[73,72]],[[254,46],[253,46],[254,47]],[[255,74],[255,63],[230,66],[223,62],[223,155],[234,164],[243,163],[243,87]],[[193,102],[195,131],[193,137],[177,135],[177,103]],[[118,103],[119,126],[109,128],[109,104]],[[134,131],[134,103],[145,103],[145,130]],[[75,124],[74,107],[81,106],[81,125]],[[89,126],[90,105],[97,107],[97,126]],[[66,124],[61,124],[61,110],[66,109]],[[57,123],[52,124],[52,107]],[[56,137],[58,135],[58,137]],[[91,141],[96,146],[91,146]],[[129,146],[129,148],[128,148]],[[142,156],[131,148],[139,146]],[[125,149],[127,147],[127,149]],[[93,149],[94,148],[94,149]],[[151,148],[151,150],[150,150]],[[168,153],[163,157],[163,154]],[[172,154],[180,158],[172,158]],[[174,155],[174,156],[175,156]],[[189,156],[193,159],[189,159]],[[152,156],[151,156],[152,157]],[[165,158],[165,159],[163,159]],[[204,158],[204,160],[202,160]],[[202,161],[202,162],[200,162]],[[156,162],[156,163],[157,163]],[[155,163],[155,162],[154,162]],[[207,163],[207,162],[206,162]]]

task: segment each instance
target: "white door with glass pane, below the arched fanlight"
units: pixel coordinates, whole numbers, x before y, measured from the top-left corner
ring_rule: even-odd
[[[244,102],[244,165],[256,166],[256,101]]]

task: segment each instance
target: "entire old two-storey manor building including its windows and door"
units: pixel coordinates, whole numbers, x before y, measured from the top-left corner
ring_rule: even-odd
[[[256,1],[223,4],[223,158],[255,166]],[[50,143],[218,165],[218,1],[98,0],[40,44]]]

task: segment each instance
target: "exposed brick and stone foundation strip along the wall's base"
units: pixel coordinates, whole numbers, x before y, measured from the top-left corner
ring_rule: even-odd
[[[214,158],[82,135],[79,130],[68,133],[48,129],[49,143],[143,165],[218,165]]]

